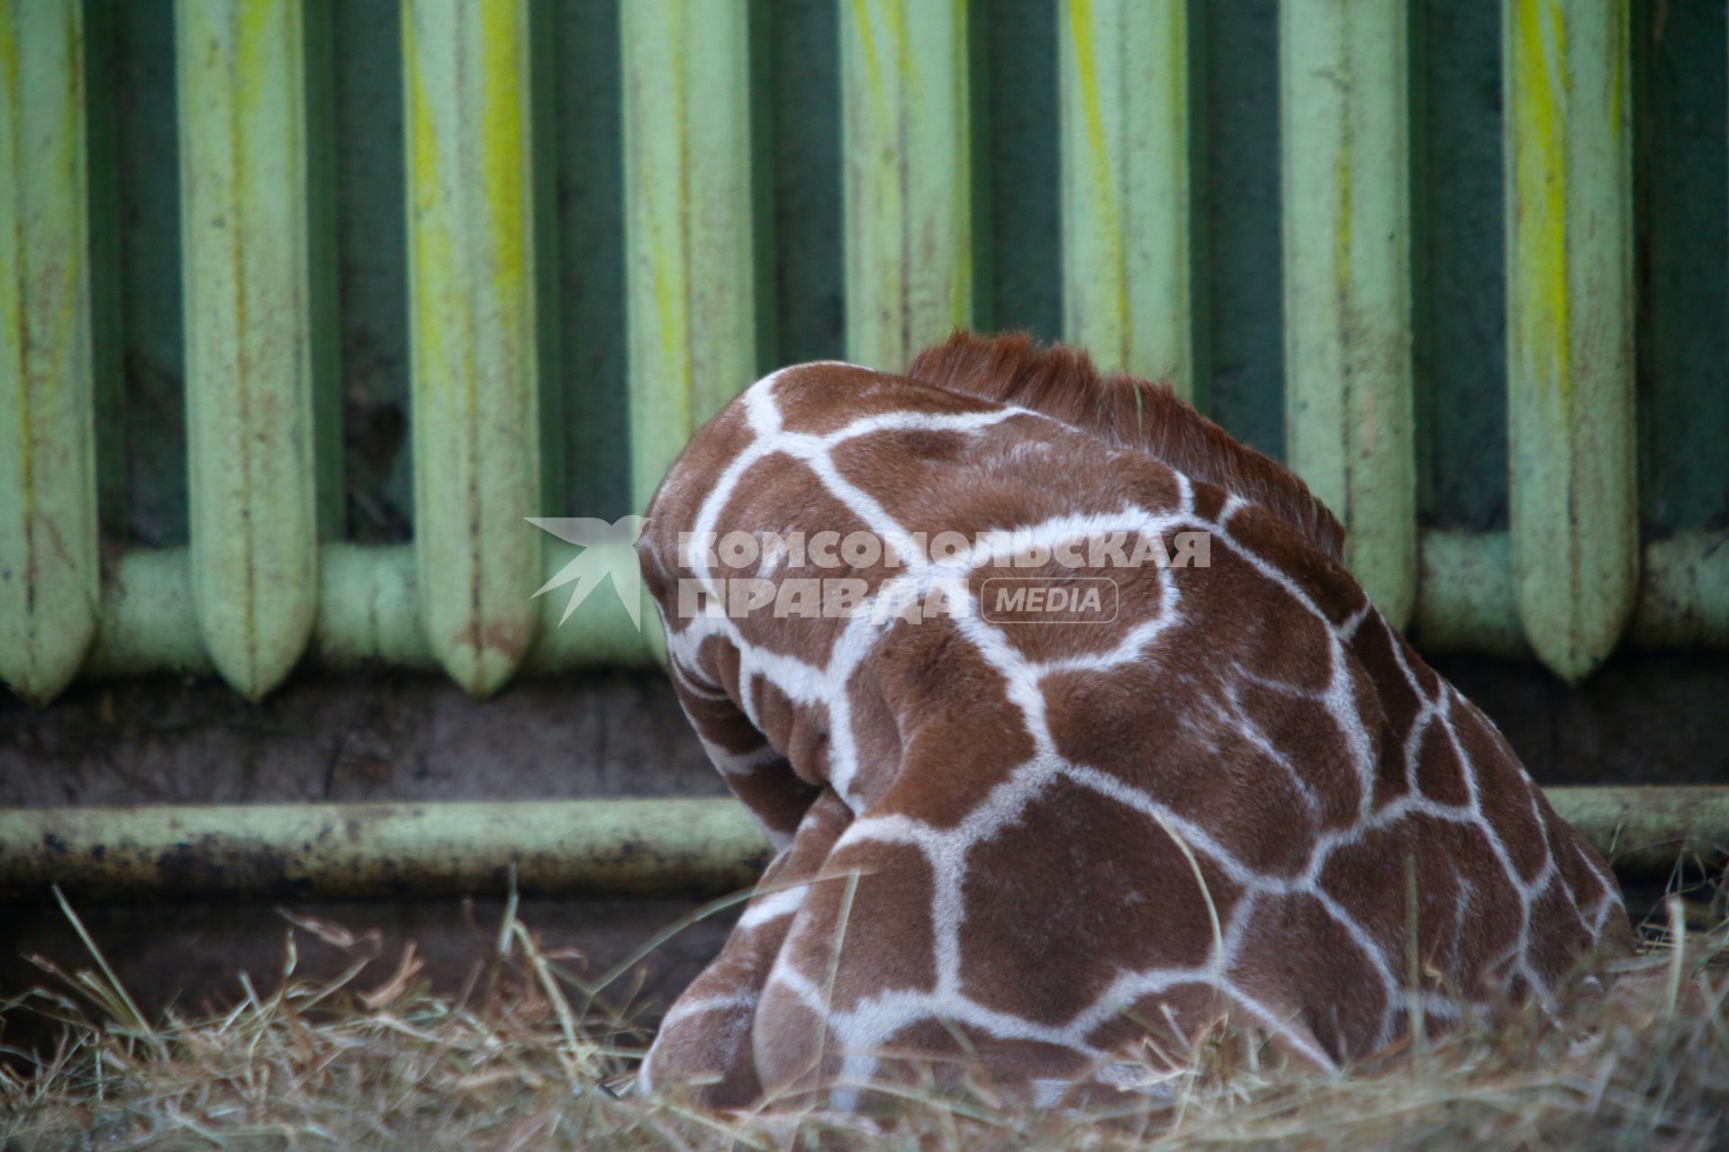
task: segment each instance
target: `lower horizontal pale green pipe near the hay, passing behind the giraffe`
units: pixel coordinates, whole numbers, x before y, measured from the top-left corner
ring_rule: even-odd
[[[1551,788],[1627,877],[1729,846],[1729,788]],[[768,845],[712,800],[209,805],[0,812],[0,898],[57,883],[99,898],[173,895],[688,893],[750,884]]]

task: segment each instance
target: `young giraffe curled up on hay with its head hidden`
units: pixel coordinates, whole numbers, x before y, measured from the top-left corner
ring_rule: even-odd
[[[1050,1105],[1221,1017],[1337,1067],[1627,946],[1333,515],[1162,385],[965,333],[785,368],[648,516],[678,696],[776,855],[645,1090]]]

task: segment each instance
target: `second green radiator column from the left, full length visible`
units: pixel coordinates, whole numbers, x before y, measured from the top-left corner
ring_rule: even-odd
[[[304,28],[296,0],[178,0],[192,596],[249,699],[318,604]]]

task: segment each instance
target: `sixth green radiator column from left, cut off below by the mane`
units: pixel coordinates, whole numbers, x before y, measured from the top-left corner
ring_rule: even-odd
[[[1067,0],[1063,335],[1195,396],[1190,0]]]

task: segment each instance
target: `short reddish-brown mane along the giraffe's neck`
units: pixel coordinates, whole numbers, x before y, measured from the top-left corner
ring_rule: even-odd
[[[1236,440],[1167,383],[1105,375],[1082,349],[1037,344],[1024,332],[982,337],[956,330],[915,356],[906,375],[949,392],[1018,404],[1112,447],[1146,453],[1260,504],[1328,556],[1343,560],[1343,527],[1297,473]]]

